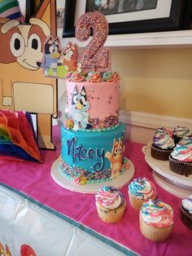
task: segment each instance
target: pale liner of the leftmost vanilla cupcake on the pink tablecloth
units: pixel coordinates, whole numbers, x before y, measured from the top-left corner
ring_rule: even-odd
[[[124,200],[120,207],[111,210],[103,207],[98,203],[98,201],[96,201],[98,217],[101,218],[105,223],[117,223],[121,220],[121,218],[123,218],[126,205],[126,201]]]

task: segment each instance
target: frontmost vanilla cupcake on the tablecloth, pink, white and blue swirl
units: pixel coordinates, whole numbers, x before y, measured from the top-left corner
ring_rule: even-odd
[[[165,241],[173,227],[173,210],[163,201],[146,201],[139,213],[142,235],[151,241]]]

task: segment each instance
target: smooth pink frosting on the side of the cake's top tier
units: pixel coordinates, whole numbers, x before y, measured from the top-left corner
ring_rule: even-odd
[[[117,82],[66,82],[68,94],[68,114],[72,114],[72,93],[80,92],[84,86],[89,102],[89,118],[103,120],[119,112],[120,81]]]

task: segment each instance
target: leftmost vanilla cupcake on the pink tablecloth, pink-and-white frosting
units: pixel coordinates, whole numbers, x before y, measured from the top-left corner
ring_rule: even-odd
[[[126,201],[122,193],[111,187],[103,187],[95,195],[98,217],[106,223],[117,223],[124,215]]]

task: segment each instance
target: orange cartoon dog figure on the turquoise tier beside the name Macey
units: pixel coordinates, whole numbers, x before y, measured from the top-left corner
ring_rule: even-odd
[[[105,157],[111,162],[111,178],[115,178],[123,166],[124,143],[121,138],[119,141],[114,139],[112,151],[106,152]]]

